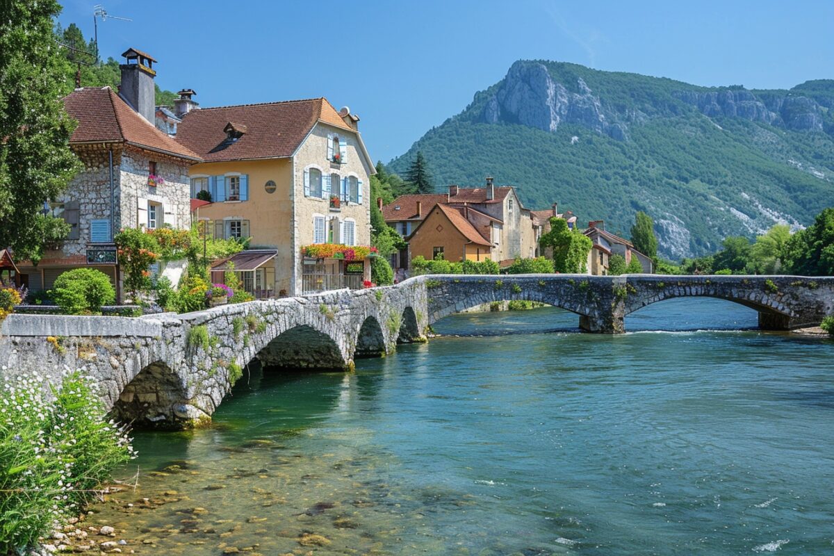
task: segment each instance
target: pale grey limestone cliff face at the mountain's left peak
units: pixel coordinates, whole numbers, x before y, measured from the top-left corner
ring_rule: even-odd
[[[521,123],[548,132],[555,132],[560,123],[579,123],[625,140],[628,137],[625,124],[603,108],[600,98],[582,78],[576,84],[579,93],[571,93],[550,77],[543,64],[516,62],[498,92],[486,103],[482,120],[485,123]]]

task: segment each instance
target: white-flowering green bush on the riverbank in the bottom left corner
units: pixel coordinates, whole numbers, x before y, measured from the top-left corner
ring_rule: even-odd
[[[77,514],[114,468],[135,457],[126,429],[107,420],[92,378],[65,372],[53,398],[38,373],[0,388],[0,554],[32,546]]]

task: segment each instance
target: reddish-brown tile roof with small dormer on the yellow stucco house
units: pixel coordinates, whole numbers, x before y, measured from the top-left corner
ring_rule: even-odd
[[[192,110],[178,124],[177,141],[206,162],[288,158],[318,122],[354,133],[326,98],[311,98]],[[246,132],[234,143],[224,132],[229,123]]]

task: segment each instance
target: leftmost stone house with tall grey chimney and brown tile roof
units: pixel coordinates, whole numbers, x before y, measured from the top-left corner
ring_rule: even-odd
[[[60,273],[82,267],[108,274],[119,291],[113,245],[119,228],[189,226],[188,167],[200,158],[153,126],[153,58],[133,48],[123,56],[120,93],[87,87],[63,98],[78,120],[69,144],[83,171],[43,208],[70,225],[68,238],[37,265],[18,264],[32,291],[52,288]]]

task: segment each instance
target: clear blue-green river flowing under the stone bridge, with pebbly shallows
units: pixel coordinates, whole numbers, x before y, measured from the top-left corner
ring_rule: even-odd
[[[576,321],[455,315],[355,373],[252,368],[212,428],[137,433],[138,489],[90,521],[144,554],[834,549],[834,342],[701,298]]]

